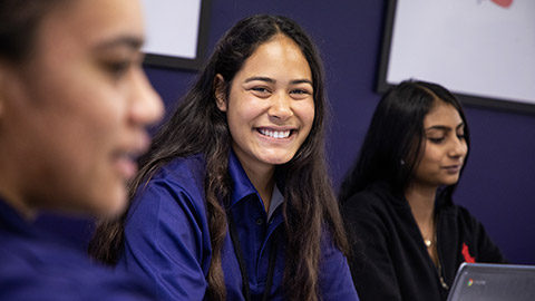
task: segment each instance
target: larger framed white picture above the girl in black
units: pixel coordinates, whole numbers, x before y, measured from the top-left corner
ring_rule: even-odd
[[[535,1],[388,0],[378,91],[415,78],[535,113]]]

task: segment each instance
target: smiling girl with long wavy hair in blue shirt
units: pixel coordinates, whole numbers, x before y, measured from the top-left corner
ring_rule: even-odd
[[[239,21],[157,134],[93,254],[162,300],[357,300],[324,162],[321,61],[284,17]]]

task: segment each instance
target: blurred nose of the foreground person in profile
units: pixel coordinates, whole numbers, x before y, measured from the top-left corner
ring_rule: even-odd
[[[154,90],[143,69],[136,70],[133,76],[130,120],[139,126],[155,124],[164,115],[162,98]]]

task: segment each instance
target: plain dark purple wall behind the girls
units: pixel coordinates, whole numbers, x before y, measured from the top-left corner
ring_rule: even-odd
[[[374,93],[386,0],[212,0],[210,48],[239,19],[285,14],[315,39],[325,62],[333,118],[331,174],[340,184],[352,164],[380,96]],[[169,38],[172,30],[169,30]],[[459,70],[461,71],[461,70]],[[167,104],[189,86],[192,71],[147,68]],[[471,154],[456,193],[514,263],[535,264],[535,116],[466,106]]]

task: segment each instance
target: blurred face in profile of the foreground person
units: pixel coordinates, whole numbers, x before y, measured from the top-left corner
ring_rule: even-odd
[[[163,104],[142,69],[142,9],[77,0],[42,20],[32,56],[0,64],[0,194],[29,213],[117,213]]]

